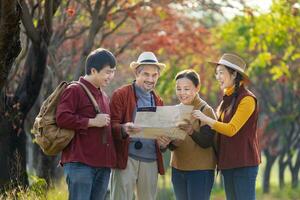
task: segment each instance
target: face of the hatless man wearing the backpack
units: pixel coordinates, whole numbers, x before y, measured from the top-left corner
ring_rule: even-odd
[[[92,69],[92,75],[94,76],[94,84],[97,87],[106,87],[115,76],[116,68],[110,68],[109,65],[102,68],[99,72],[96,69]]]

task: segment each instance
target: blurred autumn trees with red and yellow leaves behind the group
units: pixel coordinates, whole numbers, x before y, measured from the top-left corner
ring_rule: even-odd
[[[222,94],[207,61],[240,54],[260,104],[263,191],[270,191],[276,163],[279,187],[289,172],[297,188],[299,9],[296,0],[273,0],[265,12],[242,0],[1,0],[0,188],[28,185],[27,174],[49,186],[61,179],[59,156],[44,156],[30,129],[53,88],[83,75],[86,56],[99,47],[118,60],[108,94],[133,80],[128,66],[142,51],[155,52],[167,64],[157,85],[166,104],[177,103],[175,74],[193,68],[201,77],[200,95],[216,106]]]

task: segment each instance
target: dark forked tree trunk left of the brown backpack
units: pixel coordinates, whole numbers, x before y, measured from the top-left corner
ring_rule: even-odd
[[[0,115],[0,150],[1,159],[4,161],[0,163],[0,170],[4,170],[0,180],[5,185],[27,186],[24,121],[41,89],[47,64],[47,47],[52,34],[52,17],[60,5],[60,0],[45,1],[45,16],[36,28],[33,26],[26,2],[18,2],[22,5],[22,22],[27,36],[31,39],[31,45],[24,64],[24,75],[18,82],[13,97],[5,101],[0,100],[0,107],[6,109],[4,115]]]

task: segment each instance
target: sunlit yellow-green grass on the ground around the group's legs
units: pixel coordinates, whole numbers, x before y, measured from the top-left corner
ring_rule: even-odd
[[[263,162],[264,163],[264,162]],[[264,164],[260,166],[259,174],[257,176],[257,199],[258,200],[300,200],[300,186],[297,189],[291,189],[290,179],[291,175],[287,172],[285,174],[286,187],[283,190],[278,188],[278,165],[274,165],[271,173],[271,189],[270,194],[262,193]],[[170,168],[167,170],[165,176],[159,176],[158,182],[158,200],[175,200],[174,192],[171,184]],[[54,188],[47,190],[46,183],[43,179],[35,176],[30,177],[31,186],[24,190],[13,190],[6,192],[5,195],[0,195],[0,200],[67,200],[67,186],[65,180],[61,180]],[[221,188],[220,175],[215,181],[212,191],[211,200],[225,200],[225,192]]]

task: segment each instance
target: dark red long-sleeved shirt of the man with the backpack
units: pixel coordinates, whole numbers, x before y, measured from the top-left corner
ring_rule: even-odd
[[[101,113],[110,114],[109,98],[84,78],[83,83],[93,94]],[[115,167],[116,153],[111,135],[111,125],[106,127],[88,127],[90,118],[96,111],[89,97],[79,84],[71,84],[63,92],[56,111],[59,127],[74,129],[75,136],[63,150],[61,163],[81,162],[91,167]],[[103,141],[106,134],[107,141]]]

